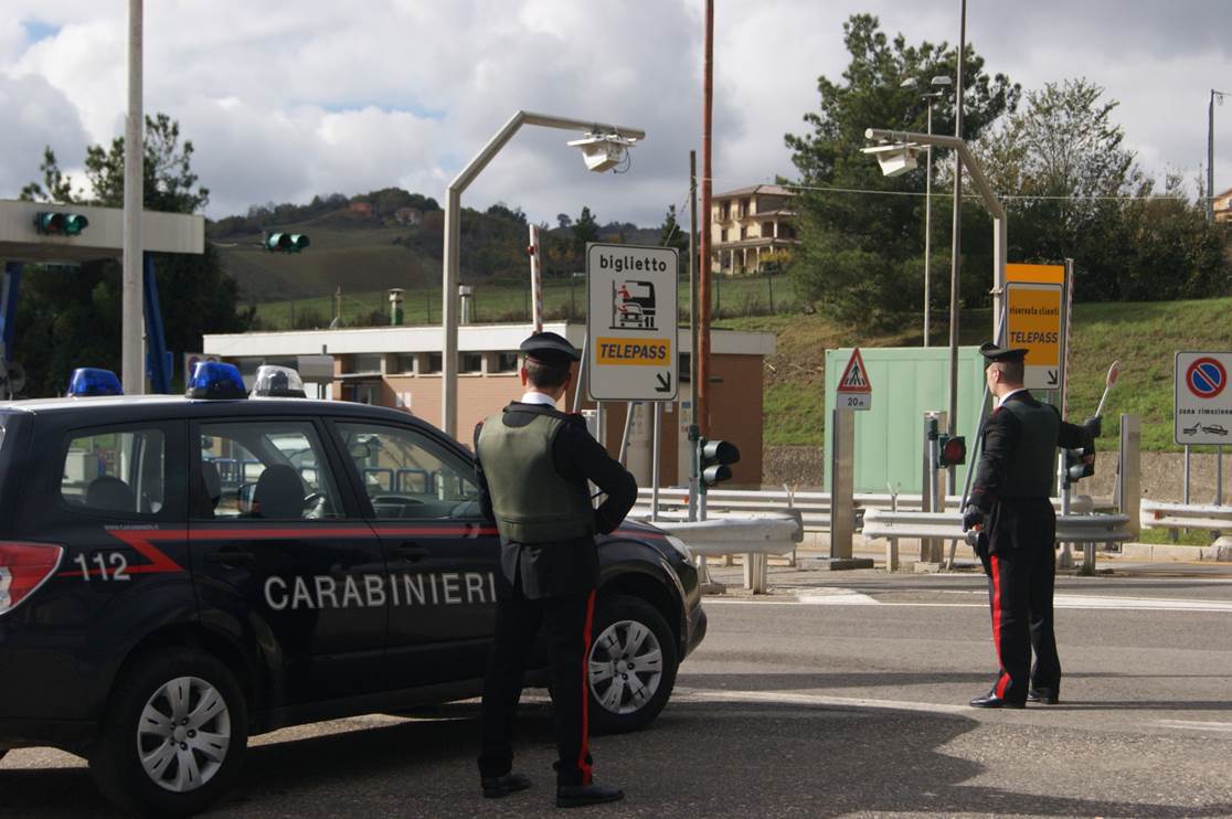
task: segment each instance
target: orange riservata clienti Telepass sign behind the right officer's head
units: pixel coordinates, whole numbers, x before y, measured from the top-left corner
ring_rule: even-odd
[[[1010,282],[1005,286],[1005,345],[1026,350],[1024,385],[1061,389],[1062,286]]]

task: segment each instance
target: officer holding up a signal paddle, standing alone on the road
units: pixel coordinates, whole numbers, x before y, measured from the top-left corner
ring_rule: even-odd
[[[971,701],[977,708],[1055,704],[1061,660],[1052,632],[1056,581],[1056,514],[1051,494],[1057,447],[1082,447],[1094,458],[1099,419],[1067,424],[1023,385],[1026,350],[988,342],[986,378],[998,406],[984,424],[983,447],[963,531],[981,530],[976,553],[988,575],[993,643],[1000,670],[992,691]],[[1031,652],[1035,665],[1031,665]]]

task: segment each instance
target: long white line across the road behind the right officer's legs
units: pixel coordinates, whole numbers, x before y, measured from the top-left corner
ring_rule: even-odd
[[[987,597],[984,591],[972,591],[972,595]],[[827,587],[801,591],[793,599],[750,599],[750,597],[710,597],[703,605],[748,605],[748,606],[887,606],[898,608],[987,608],[987,600],[972,602],[926,602],[878,600],[854,589]],[[1092,611],[1178,611],[1178,612],[1232,612],[1232,601],[1226,600],[1181,600],[1172,597],[1119,597],[1112,595],[1056,595],[1055,608],[1092,610]]]

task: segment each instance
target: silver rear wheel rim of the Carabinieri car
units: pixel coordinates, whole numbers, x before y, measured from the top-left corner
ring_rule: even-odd
[[[176,677],[145,702],[137,725],[137,756],[155,785],[187,793],[212,780],[230,746],[230,712],[201,677]]]

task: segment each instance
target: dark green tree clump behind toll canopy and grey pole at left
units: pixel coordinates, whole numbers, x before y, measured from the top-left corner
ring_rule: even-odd
[[[180,143],[179,123],[166,115],[145,119],[144,206],[149,211],[192,213],[209,198],[192,172],[192,143]],[[22,198],[65,204],[120,207],[124,198],[123,138],[110,149],[86,149],[86,186],[74,191],[51,148],[43,151],[43,184],[31,182]],[[249,326],[254,310],[240,310],[239,288],[209,244],[200,256],[154,254],[169,350],[201,349],[203,333]],[[63,393],[74,367],[118,368],[120,265],[113,260],[80,267],[33,268],[17,305],[16,352],[27,373],[28,395]]]

